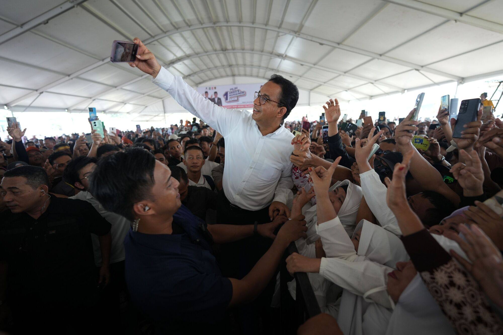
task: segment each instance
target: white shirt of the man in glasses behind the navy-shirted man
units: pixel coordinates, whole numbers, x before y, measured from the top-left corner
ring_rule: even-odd
[[[100,215],[112,225],[112,228],[110,229],[110,234],[112,235],[110,264],[124,261],[126,259],[126,254],[124,252],[123,243],[124,238],[129,231],[129,227],[131,227],[131,221],[126,219],[124,216],[105,210],[98,200],[96,200],[96,198],[94,198],[88,191],[80,191],[73,197],[70,197],[70,199],[78,199],[89,202],[98,211],[98,213],[100,213]],[[99,267],[101,266],[100,239],[95,234],[91,234],[91,239],[93,241],[95,264]]]

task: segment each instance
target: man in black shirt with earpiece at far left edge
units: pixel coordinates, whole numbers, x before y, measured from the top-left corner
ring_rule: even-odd
[[[100,239],[104,286],[110,224],[85,201],[50,195],[48,184],[44,169],[29,165],[7,171],[0,184],[9,209],[0,220],[0,309],[10,306],[12,333],[95,333],[105,316],[96,312],[90,234]]]

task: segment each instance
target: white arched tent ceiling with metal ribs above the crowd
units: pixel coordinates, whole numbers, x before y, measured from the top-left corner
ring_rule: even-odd
[[[147,75],[109,61],[113,40],[134,37],[194,87],[279,73],[306,92],[304,104],[503,74],[503,0],[0,0],[0,9],[0,104],[13,111],[179,112]]]

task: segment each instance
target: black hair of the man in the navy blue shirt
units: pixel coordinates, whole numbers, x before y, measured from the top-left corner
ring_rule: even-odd
[[[141,148],[128,148],[98,162],[90,181],[90,191],[110,212],[135,219],[133,206],[153,198],[154,156]]]

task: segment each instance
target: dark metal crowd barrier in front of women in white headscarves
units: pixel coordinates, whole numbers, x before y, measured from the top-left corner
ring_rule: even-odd
[[[295,334],[297,328],[304,323],[305,320],[321,313],[307,274],[298,272],[292,277],[286,269],[286,258],[293,253],[298,253],[295,242],[290,243],[286,249],[280,267],[281,334]],[[293,278],[295,278],[297,284],[295,300],[292,299],[287,286],[287,283]]]

